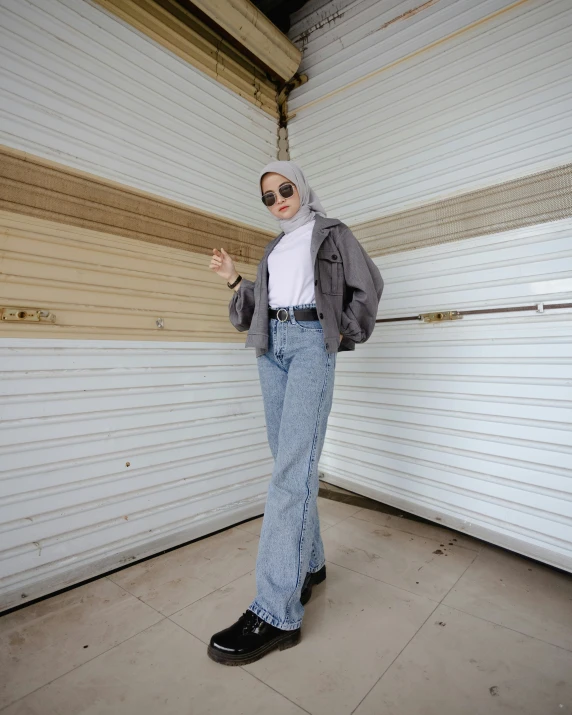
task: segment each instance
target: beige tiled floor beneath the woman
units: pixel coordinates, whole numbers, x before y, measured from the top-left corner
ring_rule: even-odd
[[[5,715],[572,715],[572,577],[320,499],[302,642],[245,668],[210,635],[254,595],[261,520],[0,619]]]

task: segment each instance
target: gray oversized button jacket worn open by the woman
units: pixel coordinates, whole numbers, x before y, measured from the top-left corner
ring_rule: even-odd
[[[256,348],[256,357],[268,350],[268,256],[283,236],[266,246],[255,282],[243,278],[229,304],[230,322],[237,330],[248,330],[246,347]],[[326,350],[355,350],[375,327],[381,274],[350,229],[337,219],[316,216],[310,250]]]

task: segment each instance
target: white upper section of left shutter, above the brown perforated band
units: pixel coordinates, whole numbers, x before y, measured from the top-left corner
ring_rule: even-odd
[[[0,144],[274,229],[254,191],[273,117],[85,0],[0,12]]]

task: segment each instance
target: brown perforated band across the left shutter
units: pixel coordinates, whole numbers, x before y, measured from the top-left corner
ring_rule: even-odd
[[[274,234],[0,146],[0,209],[257,264]]]

